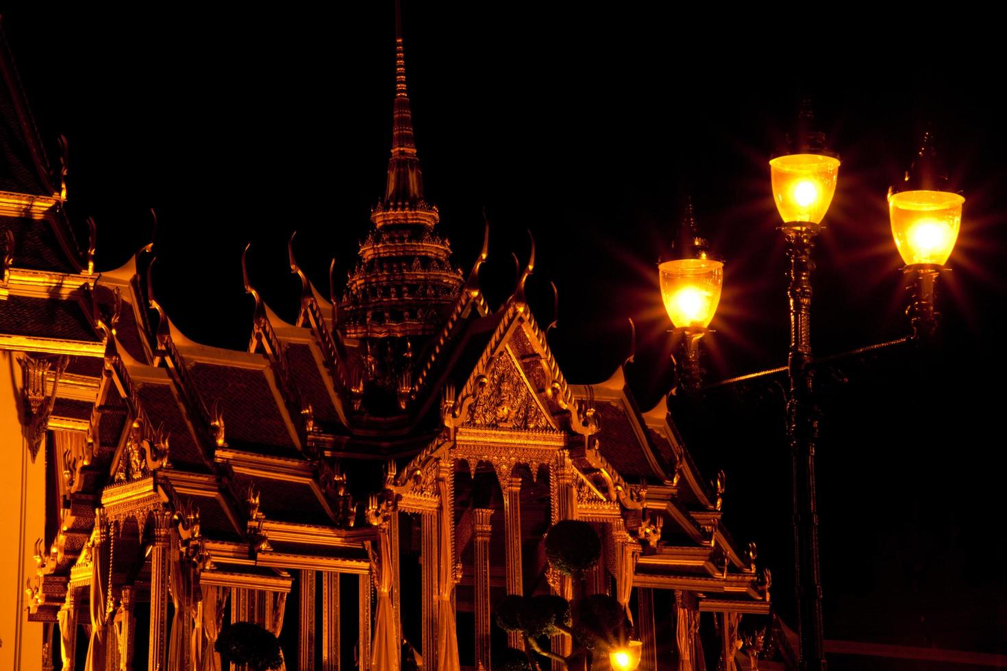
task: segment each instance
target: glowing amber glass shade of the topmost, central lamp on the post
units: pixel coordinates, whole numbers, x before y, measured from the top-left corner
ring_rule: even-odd
[[[788,154],[769,161],[772,197],[784,223],[821,223],[836,193],[839,159]]]

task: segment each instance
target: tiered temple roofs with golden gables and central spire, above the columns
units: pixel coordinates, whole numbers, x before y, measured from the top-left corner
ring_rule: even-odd
[[[665,401],[638,407],[621,367],[597,384],[566,380],[524,297],[534,251],[500,306],[478,282],[488,225],[467,281],[452,266],[423,192],[401,30],[396,55],[387,190],[344,298],[334,305],[307,280],[292,237],[290,271],[302,283],[295,323],[246,276],[252,333],[247,351],[233,351],[193,342],[172,323],[150,281],[151,245],[122,268],[93,272],[94,245],[73,236],[64,193],[52,188],[0,53],[0,233],[8,241],[0,348],[23,353],[22,393],[33,408],[24,432],[34,449],[50,446],[54,483],[30,620],[55,622],[75,598],[87,601],[81,590],[103,533],[136,549],[132,558],[122,545],[111,550],[112,610],[127,603],[126,588],[160,589],[160,555],[142,548],[158,547],[163,529],[178,547],[198,548],[191,579],[236,591],[282,593],[292,570],[378,574],[374,548],[400,512],[450,513],[454,560],[471,562],[474,508],[461,508],[461,490],[457,499],[445,491],[487,474],[505,498],[524,491],[529,509],[545,496],[547,522],[596,523],[608,548],[602,575],[697,595],[699,610],[767,612],[768,578],[753,548],[723,527],[720,481],[698,472]],[[448,489],[438,489],[445,479]],[[541,551],[537,529],[523,523],[509,536],[519,557]],[[628,573],[613,547],[635,557]],[[475,589],[470,574],[464,579]],[[529,579],[524,589],[550,585]],[[478,610],[476,602],[466,603]],[[362,620],[362,651],[371,626]],[[150,654],[166,654],[155,643]]]

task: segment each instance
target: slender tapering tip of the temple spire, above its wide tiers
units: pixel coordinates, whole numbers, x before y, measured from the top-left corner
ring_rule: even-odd
[[[395,106],[392,124],[392,157],[388,162],[385,208],[415,209],[423,202],[423,175],[416,157],[413,112],[406,91],[406,55],[402,44],[402,11],[395,3]]]

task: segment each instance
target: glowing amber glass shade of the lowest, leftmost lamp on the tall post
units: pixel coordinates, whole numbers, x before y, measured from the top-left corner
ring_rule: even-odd
[[[710,325],[720,303],[724,264],[710,259],[666,261],[661,272],[661,298],[676,328]]]

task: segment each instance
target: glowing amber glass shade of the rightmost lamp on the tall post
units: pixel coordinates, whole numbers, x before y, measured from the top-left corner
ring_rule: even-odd
[[[901,191],[888,195],[891,233],[908,266],[944,266],[955,248],[965,198],[949,191]]]

